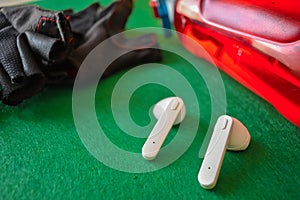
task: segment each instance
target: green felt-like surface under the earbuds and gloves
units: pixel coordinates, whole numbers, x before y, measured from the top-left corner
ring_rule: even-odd
[[[47,0],[38,4],[79,10],[92,2]],[[127,28],[143,26],[159,26],[148,0],[135,1]],[[180,159],[149,173],[126,173],[104,165],[87,151],[77,134],[72,87],[51,87],[18,107],[0,104],[0,199],[299,199],[299,128],[224,73],[226,112],[246,125],[252,141],[247,151],[227,152],[212,191],[200,187],[197,174],[202,159],[198,153],[210,118],[209,94],[185,60],[168,52],[163,56],[163,64],[190,81],[200,103],[197,136]],[[139,152],[144,140],[126,136],[110,110],[114,85],[125,72],[101,81],[96,94],[97,118],[113,143]],[[132,118],[140,125],[147,124],[149,106],[170,95],[170,90],[155,84],[139,88],[130,101]],[[176,130],[172,129],[166,143]]]

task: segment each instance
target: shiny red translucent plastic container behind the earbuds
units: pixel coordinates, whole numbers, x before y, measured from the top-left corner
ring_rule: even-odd
[[[177,0],[174,25],[220,69],[300,126],[299,0]]]

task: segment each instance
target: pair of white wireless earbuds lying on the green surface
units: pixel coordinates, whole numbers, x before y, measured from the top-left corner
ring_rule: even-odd
[[[147,160],[156,158],[172,126],[183,121],[186,109],[181,98],[169,97],[155,104],[153,113],[158,121],[142,148],[142,155]],[[250,139],[247,128],[239,120],[228,115],[220,116],[198,174],[200,185],[212,189],[217,183],[226,148],[245,150]]]

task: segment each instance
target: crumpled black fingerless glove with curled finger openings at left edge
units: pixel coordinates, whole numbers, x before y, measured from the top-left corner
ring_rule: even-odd
[[[0,10],[0,98],[17,105],[44,88],[42,62],[63,60],[71,51],[72,32],[62,12],[36,6]]]

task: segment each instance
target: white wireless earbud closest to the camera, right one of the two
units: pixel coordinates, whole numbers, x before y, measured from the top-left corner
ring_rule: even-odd
[[[203,188],[212,189],[216,185],[226,147],[232,151],[245,150],[250,138],[247,128],[239,120],[228,115],[218,118],[198,174]]]

